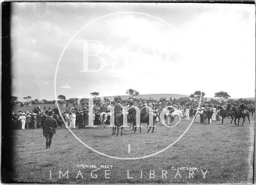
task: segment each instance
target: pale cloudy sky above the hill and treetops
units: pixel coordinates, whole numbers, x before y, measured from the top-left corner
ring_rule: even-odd
[[[124,95],[130,88],[254,97],[254,10],[253,4],[13,3],[12,95],[53,100],[58,64],[56,95],[67,98]]]

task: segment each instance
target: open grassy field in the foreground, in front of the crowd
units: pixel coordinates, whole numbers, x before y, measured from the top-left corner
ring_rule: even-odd
[[[42,130],[14,130],[14,181],[31,183],[252,183],[254,118],[243,126],[230,124],[230,118],[210,125],[192,124],[174,146],[164,152],[137,160],[120,160],[97,154],[82,145],[67,129],[58,128],[52,146],[45,148]],[[111,128],[72,130],[88,146],[116,157],[141,157],[162,150],[186,130],[190,121],[174,128],[158,123],[153,134],[133,134],[131,128],[123,136],[112,136]],[[128,153],[130,144],[130,154]],[[112,169],[77,167],[77,165],[112,165]],[[197,167],[193,177],[188,170]],[[50,178],[51,170],[51,178]],[[59,178],[59,170],[68,178]],[[78,175],[78,172],[81,175]],[[110,170],[110,171],[105,171]],[[133,177],[133,179],[128,178]],[[154,175],[151,175],[154,172]],[[202,171],[205,173],[203,178]],[[142,178],[141,178],[142,171]],[[91,176],[97,178],[93,178]],[[110,178],[105,178],[106,177]],[[109,175],[108,175],[109,173]],[[162,176],[162,173],[166,173]],[[192,173],[192,171],[191,171]],[[77,177],[78,175],[78,177]],[[175,178],[176,176],[176,178]],[[77,177],[77,178],[76,178]],[[162,178],[164,177],[164,178]]]

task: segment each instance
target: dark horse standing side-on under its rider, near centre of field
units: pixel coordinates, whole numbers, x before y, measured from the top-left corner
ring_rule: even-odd
[[[152,117],[153,117],[153,128],[152,126],[149,126],[149,117],[150,115],[149,114],[153,114]],[[136,109],[135,108],[130,108],[128,110],[128,122],[132,122],[132,130],[134,130],[134,133],[136,132]],[[156,123],[156,114],[153,113],[153,112],[150,112],[148,114],[145,114],[143,115],[141,118],[140,118],[140,126],[141,126],[141,123],[147,123],[147,126],[149,127],[148,129],[148,132],[150,131],[150,129],[152,128],[152,132],[151,133],[154,133],[154,125]],[[141,127],[140,127],[140,132],[141,132]],[[148,133],[147,132],[147,133]]]

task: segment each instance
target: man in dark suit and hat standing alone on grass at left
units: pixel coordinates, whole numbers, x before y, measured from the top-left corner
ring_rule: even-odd
[[[53,134],[56,133],[55,128],[58,127],[57,121],[52,118],[53,112],[49,111],[49,117],[44,121],[44,137],[46,138],[46,149],[52,144]]]

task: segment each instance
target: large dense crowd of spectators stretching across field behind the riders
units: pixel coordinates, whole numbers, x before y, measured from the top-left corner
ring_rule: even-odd
[[[63,108],[66,108],[62,112],[62,116],[60,116],[58,108],[54,106],[52,111],[54,114],[58,114],[58,126],[62,128],[66,128],[64,122],[68,123],[70,128],[84,128],[84,126],[88,126],[89,122],[92,122],[92,125],[100,125],[100,113],[101,112],[110,112],[110,108],[114,107],[114,105],[119,102],[124,107],[124,110],[128,110],[131,106],[137,106],[142,109],[141,114],[146,114],[145,107],[147,109],[149,107],[152,108],[153,112],[158,115],[162,108],[166,108],[168,106],[172,106],[178,110],[182,110],[186,120],[190,120],[190,117],[196,116],[195,122],[197,123],[210,123],[212,121],[220,120],[220,108],[218,104],[202,104],[201,108],[195,109],[195,105],[182,105],[176,100],[168,100],[167,98],[160,98],[160,100],[154,100],[153,98],[130,98],[129,100],[121,100],[120,96],[114,98],[111,102],[108,98],[105,99],[95,99],[93,100],[92,108],[89,108],[89,101],[84,101],[80,104],[80,107],[77,106],[69,106],[67,108],[66,104],[62,104]],[[73,104],[76,105],[76,104]],[[253,107],[252,104],[244,105],[243,102],[238,106],[238,103],[235,102],[234,106],[238,108],[244,109],[244,107]],[[229,102],[222,108],[226,108],[230,110],[231,105]],[[46,110],[46,106],[44,106],[44,110],[40,108],[40,106],[34,107],[32,112],[28,112],[26,110],[19,112],[12,112],[11,115],[11,123],[12,129],[40,129],[42,128],[42,117],[47,115],[50,111],[51,107],[48,107]],[[89,110],[92,110],[89,114]],[[64,120],[62,120],[62,117]],[[159,120],[157,120],[159,121]]]

